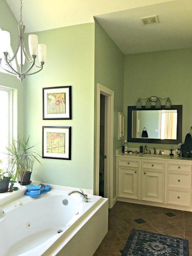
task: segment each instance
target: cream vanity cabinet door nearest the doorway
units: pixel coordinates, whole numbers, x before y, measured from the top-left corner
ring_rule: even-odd
[[[119,167],[119,196],[139,199],[138,169]]]

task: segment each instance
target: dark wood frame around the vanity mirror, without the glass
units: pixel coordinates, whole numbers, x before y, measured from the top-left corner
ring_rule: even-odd
[[[128,115],[127,115],[127,141],[128,142],[140,142],[140,143],[158,143],[158,144],[179,144],[182,140],[182,105],[172,105],[171,108],[165,108],[165,106],[161,106],[161,108],[155,108],[155,106],[151,106],[151,108],[136,108],[136,106],[128,107]],[[132,110],[177,110],[177,139],[176,140],[161,140],[161,139],[146,139],[146,138],[132,138]]]

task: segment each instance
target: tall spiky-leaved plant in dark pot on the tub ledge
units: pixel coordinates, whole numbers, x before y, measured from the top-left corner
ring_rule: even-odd
[[[41,157],[36,152],[32,151],[36,145],[29,147],[28,139],[25,138],[14,140],[12,139],[12,145],[8,150],[10,158],[10,164],[12,171],[15,172],[14,180],[18,180],[21,185],[30,184],[31,172],[33,170],[34,163],[39,162]],[[41,163],[40,163],[41,164]]]

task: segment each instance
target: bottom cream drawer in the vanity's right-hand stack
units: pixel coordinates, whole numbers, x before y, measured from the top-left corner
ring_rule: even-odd
[[[191,191],[168,189],[167,204],[191,206]]]

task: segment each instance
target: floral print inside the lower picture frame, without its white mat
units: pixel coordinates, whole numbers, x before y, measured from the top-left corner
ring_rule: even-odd
[[[47,132],[47,153],[65,154],[65,133]]]

